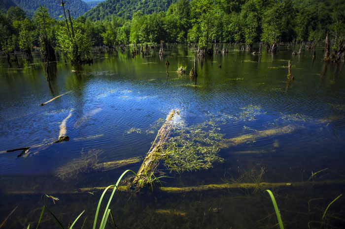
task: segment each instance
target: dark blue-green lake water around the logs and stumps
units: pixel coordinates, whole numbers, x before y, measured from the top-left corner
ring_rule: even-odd
[[[144,156],[157,134],[152,125],[181,109],[183,126],[213,120],[224,139],[286,126],[293,131],[222,148],[224,162],[208,170],[166,171],[172,178],[162,178],[163,187],[308,181],[270,188],[284,228],[344,228],[345,197],[334,201],[322,219],[328,204],[345,191],[344,63],[321,62],[322,47],[314,60],[308,50],[293,57],[297,49],[282,46],[274,56],[259,57],[232,46],[226,55],[198,59],[196,80],[189,77],[194,54],[183,45],[165,49],[163,58],[159,49],[132,58],[129,48],[124,53],[94,51],[93,64],[71,66],[62,58],[48,69],[49,80],[38,55],[32,63],[22,58],[12,67],[2,58],[0,224],[18,206],[3,228],[36,227],[46,204],[66,228],[86,210],[74,228],[81,228],[86,216],[84,228],[92,228],[101,192],[74,192],[115,184],[122,172],[137,172],[141,163],[64,179],[57,176],[59,168],[90,150],[102,152],[99,163]],[[293,82],[287,81],[288,60]],[[179,65],[186,66],[185,75],[177,74]],[[21,151],[6,152],[57,140],[68,116],[68,142],[33,147],[21,157]],[[110,208],[118,228],[278,228],[264,190],[172,194],[154,187],[153,192],[117,195]],[[54,204],[44,194],[59,200]],[[41,224],[59,228],[47,211]]]

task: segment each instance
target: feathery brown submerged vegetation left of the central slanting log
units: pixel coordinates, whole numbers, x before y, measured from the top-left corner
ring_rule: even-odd
[[[102,150],[89,150],[87,153],[81,151],[81,156],[58,168],[55,174],[60,179],[75,178],[79,173],[86,173],[94,170]]]

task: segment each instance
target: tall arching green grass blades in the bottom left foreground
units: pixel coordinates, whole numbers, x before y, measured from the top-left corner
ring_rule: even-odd
[[[119,183],[120,183],[122,177],[123,177],[127,172],[129,172],[129,171],[133,172],[132,170],[126,170],[125,172],[123,172],[123,173],[121,174],[121,176],[119,177],[119,179],[117,180],[117,182],[116,182],[115,185],[109,185],[109,186],[106,187],[106,189],[104,190],[104,192],[103,192],[103,194],[102,194],[102,196],[101,196],[101,199],[100,199],[100,201],[99,201],[99,203],[98,203],[98,206],[97,206],[96,215],[95,215],[95,221],[94,221],[94,226],[92,227],[93,229],[96,229],[96,226],[97,226],[97,218],[98,218],[98,214],[99,214],[99,212],[100,212],[101,203],[102,203],[102,200],[103,200],[103,198],[104,198],[104,195],[105,195],[106,191],[108,191],[108,189],[110,189],[110,188],[113,188],[113,190],[112,190],[112,193],[111,193],[110,198],[109,198],[109,200],[108,200],[108,203],[107,203],[107,205],[106,205],[106,207],[105,207],[105,210],[104,210],[104,213],[103,213],[103,217],[102,217],[102,221],[101,221],[101,224],[100,224],[99,229],[104,229],[104,228],[105,228],[106,221],[108,220],[109,215],[111,216],[111,220],[112,220],[112,222],[113,222],[115,228],[117,228],[117,226],[116,226],[116,224],[115,224],[115,221],[114,221],[114,217],[113,217],[112,212],[111,212],[111,209],[109,209],[109,205],[110,205],[110,202],[111,202],[111,200],[112,200],[112,198],[113,198],[113,196],[114,196],[115,191],[118,191],[117,186],[119,185]],[[135,175],[137,175],[135,172],[133,172],[133,173],[134,173]],[[120,193],[119,193],[119,195],[120,195]],[[38,229],[38,226],[39,226],[39,223],[41,222],[41,219],[42,219],[43,212],[44,212],[45,208],[47,208],[47,207],[46,207],[45,205],[43,205],[41,214],[40,214],[39,219],[38,219],[38,223],[37,223],[36,229]],[[64,227],[62,226],[62,224],[61,224],[61,222],[58,220],[58,218],[57,218],[48,208],[47,208],[47,210],[48,210],[49,213],[53,216],[53,218],[55,219],[55,221],[59,224],[60,228],[64,229]],[[82,213],[80,213],[80,215],[73,221],[73,223],[70,224],[70,226],[68,227],[68,229],[73,229],[74,224],[77,222],[77,220],[80,218],[80,216],[81,216],[84,212],[85,212],[85,210],[84,210]],[[86,218],[87,218],[87,217],[86,217]],[[84,220],[84,223],[83,223],[81,229],[84,227],[86,218],[85,218],[85,220]],[[30,229],[30,224],[29,224],[29,226],[28,226],[27,229]]]

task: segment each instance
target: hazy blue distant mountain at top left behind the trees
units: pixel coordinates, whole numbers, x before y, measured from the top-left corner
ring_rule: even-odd
[[[5,0],[6,1],[6,0]],[[12,0],[19,7],[24,9],[25,13],[31,17],[34,15],[35,11],[39,5],[45,5],[48,8],[48,12],[51,17],[58,19],[60,15],[63,15],[63,9],[61,0]],[[66,0],[66,9],[69,9],[70,14],[73,18],[77,18],[80,15],[83,15],[90,7],[86,2],[82,0]]]

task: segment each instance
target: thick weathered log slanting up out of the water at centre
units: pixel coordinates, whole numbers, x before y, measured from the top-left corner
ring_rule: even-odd
[[[146,157],[141,164],[141,167],[137,173],[137,176],[134,178],[133,183],[138,186],[142,186],[141,183],[145,182],[147,176],[151,176],[159,165],[159,160],[162,157],[162,147],[168,141],[172,129],[173,129],[173,117],[178,114],[178,110],[172,110],[168,114],[165,123],[159,129],[156,139],[153,142],[150,150],[146,154]]]

